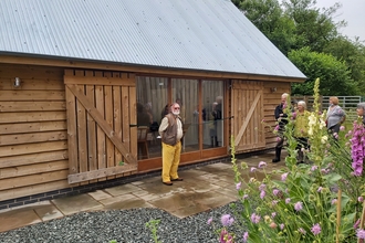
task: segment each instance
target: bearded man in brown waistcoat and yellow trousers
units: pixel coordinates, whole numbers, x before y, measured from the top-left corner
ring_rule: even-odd
[[[158,129],[163,141],[163,183],[167,186],[173,186],[171,181],[182,181],[177,175],[182,138],[182,122],[179,114],[180,105],[174,103]]]

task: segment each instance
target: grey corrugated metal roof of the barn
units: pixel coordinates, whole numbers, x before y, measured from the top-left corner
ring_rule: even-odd
[[[305,78],[229,0],[1,0],[0,53]]]

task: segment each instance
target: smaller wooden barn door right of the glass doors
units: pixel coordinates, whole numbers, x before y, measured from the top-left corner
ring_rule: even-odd
[[[236,151],[264,148],[263,83],[233,81],[231,110]]]

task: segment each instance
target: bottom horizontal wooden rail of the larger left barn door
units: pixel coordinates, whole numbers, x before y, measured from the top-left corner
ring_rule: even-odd
[[[118,173],[125,173],[125,172],[132,172],[137,171],[137,163],[129,163],[124,166],[116,166],[112,168],[104,168],[87,172],[81,172],[76,175],[69,175],[69,183],[77,183],[82,181],[98,179],[98,178],[105,178],[109,176],[115,176]]]

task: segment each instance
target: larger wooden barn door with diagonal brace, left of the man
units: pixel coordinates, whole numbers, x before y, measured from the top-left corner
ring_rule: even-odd
[[[69,183],[137,171],[134,74],[66,70]]]

